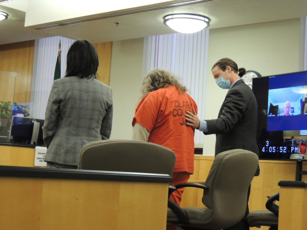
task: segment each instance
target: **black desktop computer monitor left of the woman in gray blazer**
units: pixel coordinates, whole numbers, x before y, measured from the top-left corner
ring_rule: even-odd
[[[39,123],[39,132],[37,141],[34,145],[45,146],[43,140],[43,130],[44,125],[43,119],[37,119],[32,117],[12,117],[12,125],[10,130],[11,142],[21,143],[21,144],[31,144],[34,122]]]

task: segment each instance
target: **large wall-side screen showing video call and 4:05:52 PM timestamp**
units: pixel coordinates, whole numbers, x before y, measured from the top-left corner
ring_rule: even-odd
[[[259,159],[307,160],[307,71],[254,78],[252,86]]]

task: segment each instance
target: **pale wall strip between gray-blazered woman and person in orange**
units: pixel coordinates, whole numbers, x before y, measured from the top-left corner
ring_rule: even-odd
[[[144,38],[112,43],[110,87],[114,107],[110,139],[131,139],[142,81],[143,48]]]

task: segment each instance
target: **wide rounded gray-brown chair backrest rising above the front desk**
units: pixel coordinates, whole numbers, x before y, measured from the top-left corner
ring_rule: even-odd
[[[169,148],[139,140],[99,140],[81,149],[78,169],[169,174],[176,155]]]

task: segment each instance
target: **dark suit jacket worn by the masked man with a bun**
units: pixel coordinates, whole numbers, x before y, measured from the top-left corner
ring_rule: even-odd
[[[208,132],[216,134],[215,155],[231,149],[256,153],[257,104],[253,91],[242,79],[235,82],[226,94],[217,119],[206,120]],[[255,176],[259,175],[259,166]]]

